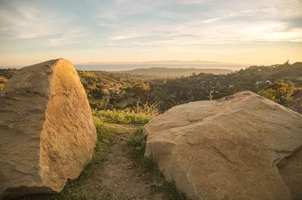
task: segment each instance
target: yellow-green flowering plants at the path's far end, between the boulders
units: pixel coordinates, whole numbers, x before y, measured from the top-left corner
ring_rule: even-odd
[[[158,114],[158,104],[144,104],[143,107],[137,106],[125,110],[92,110],[92,114],[105,123],[115,124],[147,124]]]

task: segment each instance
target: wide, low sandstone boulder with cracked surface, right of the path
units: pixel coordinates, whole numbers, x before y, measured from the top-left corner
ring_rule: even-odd
[[[302,199],[302,115],[250,91],[175,106],[144,132],[145,155],[192,199]]]

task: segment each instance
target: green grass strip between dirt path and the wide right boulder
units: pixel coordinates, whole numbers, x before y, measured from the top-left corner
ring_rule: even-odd
[[[159,168],[158,162],[154,154],[144,156],[147,136],[143,133],[142,127],[137,128],[130,139],[127,141],[131,148],[133,158],[136,165],[141,167],[146,173],[145,178],[149,181],[157,180],[163,184],[153,185],[155,192],[164,194],[165,199],[168,200],[188,200],[185,193],[178,190],[175,182],[167,182]]]

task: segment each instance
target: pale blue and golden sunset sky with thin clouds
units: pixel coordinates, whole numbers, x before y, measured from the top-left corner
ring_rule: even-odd
[[[0,66],[302,61],[302,0],[0,0]]]

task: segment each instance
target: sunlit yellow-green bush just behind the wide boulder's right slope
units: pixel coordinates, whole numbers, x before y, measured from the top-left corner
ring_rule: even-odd
[[[283,81],[270,83],[258,92],[259,95],[280,103],[284,104],[291,100],[293,93],[297,90],[296,87],[290,85],[290,81]]]

